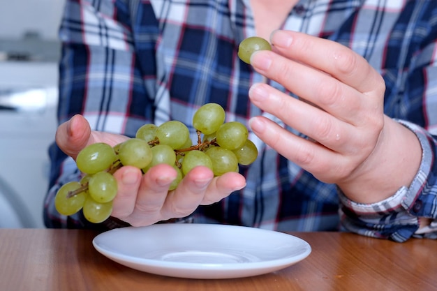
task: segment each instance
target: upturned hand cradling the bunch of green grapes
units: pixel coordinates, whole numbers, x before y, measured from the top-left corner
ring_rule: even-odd
[[[87,120],[80,115],[61,124],[56,134],[59,148],[74,159],[88,144],[105,142],[114,146],[127,139],[123,135],[91,130]],[[217,202],[246,185],[244,177],[238,173],[214,177],[207,167],[195,167],[170,192],[168,188],[176,178],[176,171],[170,165],[156,165],[146,174],[138,168],[124,166],[114,173],[114,177],[118,193],[112,216],[134,226],[188,216],[199,205]]]

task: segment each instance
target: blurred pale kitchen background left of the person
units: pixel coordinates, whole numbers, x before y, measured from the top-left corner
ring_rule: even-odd
[[[0,0],[0,227],[44,227],[64,0]]]

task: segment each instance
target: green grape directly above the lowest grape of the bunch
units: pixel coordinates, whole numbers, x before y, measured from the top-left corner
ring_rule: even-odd
[[[117,180],[108,172],[98,172],[89,178],[88,192],[96,202],[110,202],[117,195]]]

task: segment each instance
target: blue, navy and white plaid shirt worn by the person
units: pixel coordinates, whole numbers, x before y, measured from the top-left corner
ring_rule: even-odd
[[[413,184],[385,201],[357,204],[251,135],[260,156],[241,168],[246,188],[199,207],[194,221],[280,231],[346,229],[395,241],[436,238],[435,2],[301,0],[281,27],[342,43],[383,75],[385,113],[422,144]],[[227,121],[247,125],[265,114],[248,98],[251,84],[263,77],[237,57],[238,44],[253,35],[249,0],[68,0],[60,29],[59,122],[80,113],[95,130],[133,136],[149,122],[175,119],[191,126],[195,110],[214,102],[225,108]],[[47,227],[92,227],[81,214],[67,218],[54,209],[59,186],[79,172],[56,145],[50,156]],[[420,217],[434,220],[424,234],[417,232]]]

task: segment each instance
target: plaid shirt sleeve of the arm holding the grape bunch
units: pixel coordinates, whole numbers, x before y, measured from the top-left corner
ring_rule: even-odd
[[[58,121],[61,124],[82,114],[94,130],[133,135],[144,123],[147,101],[139,77],[126,1],[66,1],[59,29],[62,44],[59,61]],[[147,104],[145,102],[145,104]],[[133,109],[143,110],[138,119],[128,119]],[[136,121],[136,122],[135,122]],[[50,185],[45,197],[47,227],[101,228],[88,223],[82,211],[62,216],[54,207],[57,190],[68,181],[78,181],[81,173],[75,161],[56,144],[49,149]],[[110,222],[114,227],[114,222]]]

